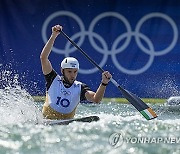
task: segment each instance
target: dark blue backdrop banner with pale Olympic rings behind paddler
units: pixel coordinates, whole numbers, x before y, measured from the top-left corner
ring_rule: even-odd
[[[125,89],[140,97],[179,95],[178,0],[0,0],[0,88],[10,70],[32,95],[45,94],[39,57],[56,24]],[[101,73],[60,35],[50,55],[58,73],[66,56],[79,60],[78,80],[95,91]],[[109,84],[105,97],[122,95]]]

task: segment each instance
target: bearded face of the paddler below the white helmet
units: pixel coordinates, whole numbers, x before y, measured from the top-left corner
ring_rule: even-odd
[[[77,68],[65,68],[61,69],[61,73],[64,75],[66,80],[68,80],[69,83],[73,83],[76,80],[78,69]]]

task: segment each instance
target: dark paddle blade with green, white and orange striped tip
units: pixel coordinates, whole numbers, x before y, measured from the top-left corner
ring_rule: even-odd
[[[139,97],[132,94],[131,92],[118,86],[123,96],[147,119],[151,120],[157,117],[157,114],[145,104]]]

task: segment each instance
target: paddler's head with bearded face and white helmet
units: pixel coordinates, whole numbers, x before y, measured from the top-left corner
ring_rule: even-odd
[[[79,62],[76,58],[66,57],[61,62],[61,73],[64,76],[66,82],[72,84],[77,77],[79,70]]]

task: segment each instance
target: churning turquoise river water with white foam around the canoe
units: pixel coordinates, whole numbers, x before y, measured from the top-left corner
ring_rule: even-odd
[[[42,103],[9,85],[0,89],[0,154],[179,154],[180,106],[149,106],[159,115],[151,121],[130,104],[102,102],[77,109],[76,117],[97,115],[98,122],[45,126]]]

